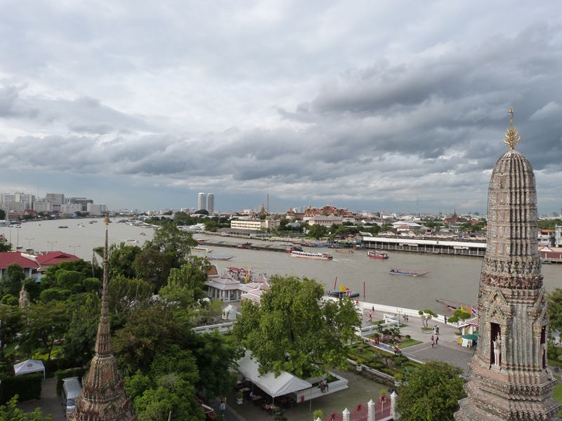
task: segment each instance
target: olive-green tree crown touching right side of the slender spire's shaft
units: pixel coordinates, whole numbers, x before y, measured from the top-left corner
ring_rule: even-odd
[[[153,286],[142,279],[128,279],[119,274],[107,286],[110,312],[129,314],[132,309],[143,305],[152,295]]]

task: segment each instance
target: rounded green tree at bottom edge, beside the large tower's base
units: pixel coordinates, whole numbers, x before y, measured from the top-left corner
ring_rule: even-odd
[[[407,382],[398,387],[401,394],[396,410],[403,421],[452,420],[459,408],[463,390],[462,369],[443,361],[426,361]]]

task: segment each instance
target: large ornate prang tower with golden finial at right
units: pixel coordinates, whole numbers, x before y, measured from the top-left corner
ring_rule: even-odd
[[[537,192],[529,161],[514,146],[494,166],[488,244],[478,293],[478,347],[455,420],[558,420],[547,367],[547,303],[537,246]]]

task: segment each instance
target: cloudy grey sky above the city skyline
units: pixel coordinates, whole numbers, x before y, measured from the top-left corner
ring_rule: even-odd
[[[562,208],[551,1],[0,2],[0,192],[485,212],[509,116]]]

